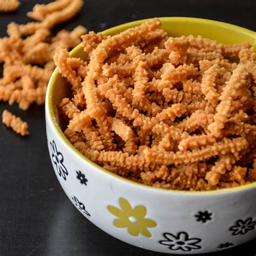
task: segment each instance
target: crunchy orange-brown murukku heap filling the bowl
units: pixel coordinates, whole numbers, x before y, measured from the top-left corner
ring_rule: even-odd
[[[256,181],[252,46],[173,38],[160,25],[154,18],[115,36],[89,32],[87,62],[55,54],[72,91],[59,105],[65,136],[104,169],[153,187]]]

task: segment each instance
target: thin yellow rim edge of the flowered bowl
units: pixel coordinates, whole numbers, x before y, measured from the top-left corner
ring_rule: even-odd
[[[147,18],[147,19],[140,19],[138,21],[133,21],[133,22],[129,22],[129,23],[124,23],[118,26],[114,26],[110,29],[104,30],[102,31],[102,33],[104,35],[109,35],[109,33],[112,33],[116,30],[122,29],[125,30],[127,28],[131,28],[133,26],[138,26],[139,24],[149,21],[151,18]],[[217,26],[221,26],[221,27],[225,27],[231,30],[236,30],[245,34],[249,34],[250,36],[256,36],[256,32],[253,32],[252,30],[249,29],[245,29],[242,28],[240,26],[237,25],[233,25],[233,24],[229,24],[229,23],[225,23],[225,22],[219,22],[219,21],[213,21],[211,19],[203,19],[203,18],[192,18],[192,17],[159,17],[161,22],[166,22],[166,21],[178,21],[178,22],[187,22],[187,23],[204,23],[207,25],[217,25]],[[70,56],[75,55],[75,53],[77,51],[79,51],[82,48],[82,44],[77,45],[74,49],[72,49],[70,51]],[[160,188],[160,187],[152,187],[152,186],[148,186],[148,185],[144,185],[144,184],[140,184],[137,183],[136,181],[132,181],[129,179],[126,179],[122,176],[119,176],[118,174],[112,173],[110,171],[107,171],[105,169],[103,169],[103,167],[99,166],[98,164],[94,163],[93,161],[91,161],[89,158],[85,157],[80,151],[78,151],[72,144],[71,142],[68,140],[68,138],[65,137],[63,131],[60,129],[58,122],[56,120],[55,117],[55,112],[53,110],[53,103],[52,103],[52,94],[53,94],[53,87],[55,85],[55,81],[57,79],[57,77],[59,76],[59,72],[57,71],[57,68],[53,71],[51,78],[49,80],[48,83],[48,88],[46,91],[46,97],[45,97],[45,112],[48,112],[49,114],[49,120],[51,123],[51,126],[53,127],[53,130],[55,131],[55,133],[57,134],[57,136],[60,138],[60,140],[62,140],[62,142],[68,146],[68,149],[75,152],[78,157],[80,157],[81,160],[89,163],[90,165],[93,165],[94,167],[96,167],[97,171],[99,172],[104,172],[106,175],[110,176],[111,178],[114,179],[118,179],[118,180],[122,180],[125,181],[125,183],[130,184],[130,185],[136,185],[139,186],[140,188],[144,188],[146,190],[154,190],[154,191],[158,191],[159,193],[179,193],[179,194],[191,194],[191,195],[201,195],[201,194],[223,194],[223,193],[230,193],[230,192],[237,192],[237,191],[244,191],[248,188],[256,188],[256,181],[254,181],[253,183],[247,184],[247,185],[242,185],[242,186],[238,186],[238,187],[233,187],[233,188],[223,188],[223,189],[219,189],[219,190],[209,190],[209,191],[185,191],[185,190],[167,190],[165,188]],[[46,115],[45,115],[46,116]],[[47,118],[47,116],[46,116]]]

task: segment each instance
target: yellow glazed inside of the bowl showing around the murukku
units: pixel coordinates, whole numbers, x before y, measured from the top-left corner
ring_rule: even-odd
[[[214,39],[217,43],[224,43],[224,44],[234,44],[234,43],[243,43],[248,42],[253,45],[254,41],[256,40],[256,32],[253,32],[248,29],[241,28],[239,26],[235,26],[232,24],[227,24],[223,22],[211,21],[208,19],[200,19],[200,18],[187,18],[187,17],[163,17],[159,18],[162,25],[161,28],[164,29],[169,36],[172,37],[180,37],[182,35],[188,36],[198,36],[201,35],[205,38]],[[140,21],[134,21],[126,24],[122,24],[119,26],[115,26],[114,28],[107,29],[103,31],[103,35],[113,36],[117,33],[120,33],[126,29],[132,28],[133,26],[138,26],[141,23],[147,21],[149,19],[143,19]],[[254,45],[254,50],[256,51],[256,45]],[[78,45],[75,49],[70,52],[70,57],[79,57],[83,60],[87,59],[87,54],[84,52],[82,45]],[[49,83],[49,93],[48,93],[48,106],[49,112],[51,116],[52,122],[55,124],[56,130],[60,137],[67,143],[73,150],[75,150],[80,156],[82,156],[86,161],[89,161],[91,164],[97,166],[99,169],[112,174],[120,179],[124,179],[122,177],[117,176],[109,171],[104,170],[102,167],[96,165],[91,160],[84,157],[79,151],[72,146],[69,140],[64,136],[61,127],[62,127],[62,120],[60,118],[58,112],[58,105],[61,100],[65,97],[71,96],[70,85],[66,81],[65,78],[60,76],[60,74],[55,70],[53,72],[51,81]],[[125,179],[127,182],[134,183],[134,181],[130,181]],[[136,183],[137,184],[137,183]],[[140,186],[145,186],[138,184]],[[240,190],[246,187],[256,186],[256,182],[240,186],[237,188],[230,188],[225,191],[233,191],[233,190]],[[148,187],[148,186],[146,186]],[[155,188],[157,190],[163,190],[161,188]],[[166,190],[165,190],[166,191]],[[193,193],[218,193],[224,190],[216,190],[216,191],[199,191]],[[184,193],[186,191],[179,191]],[[192,192],[186,192],[192,193]]]

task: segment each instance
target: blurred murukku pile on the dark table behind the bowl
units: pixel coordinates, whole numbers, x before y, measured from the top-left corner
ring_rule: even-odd
[[[55,36],[50,30],[75,16],[82,4],[82,0],[36,4],[28,17],[37,22],[8,25],[8,37],[0,38],[0,63],[4,64],[0,100],[10,105],[18,103],[22,110],[45,102],[46,88],[55,69],[53,55],[60,49],[74,48],[86,33],[83,26],[71,32],[61,30]],[[7,2],[4,6],[8,7]]]

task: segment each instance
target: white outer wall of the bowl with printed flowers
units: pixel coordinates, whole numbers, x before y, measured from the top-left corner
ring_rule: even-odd
[[[53,169],[78,210],[106,233],[147,250],[206,253],[256,237],[256,187],[183,193],[139,186],[108,174],[71,150],[46,111]]]

